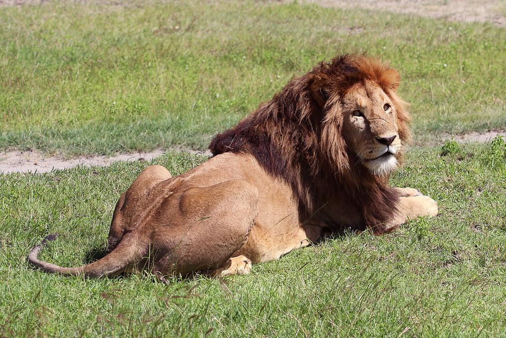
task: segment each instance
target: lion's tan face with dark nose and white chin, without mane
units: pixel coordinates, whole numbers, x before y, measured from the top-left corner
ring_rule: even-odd
[[[348,149],[373,175],[390,174],[398,166],[402,147],[391,98],[366,80],[352,86],[341,104]]]

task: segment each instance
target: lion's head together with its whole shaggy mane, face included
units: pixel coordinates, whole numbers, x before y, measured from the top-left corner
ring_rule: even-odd
[[[410,138],[406,104],[396,94],[399,80],[396,70],[364,55],[321,62],[217,135],[209,148],[213,155],[252,154],[291,184],[306,211],[328,194],[346,194],[368,208],[365,218],[381,221],[385,215],[374,205],[395,207],[397,196],[385,183]]]

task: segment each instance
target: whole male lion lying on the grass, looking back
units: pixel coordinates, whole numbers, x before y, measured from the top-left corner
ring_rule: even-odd
[[[200,166],[176,177],[147,167],[116,204],[103,258],[77,268],[41,261],[50,235],[28,261],[86,277],[150,269],[165,283],[245,275],[344,228],[381,235],[436,216],[430,197],[388,185],[410,139],[399,82],[365,55],[321,62],[215,136]]]

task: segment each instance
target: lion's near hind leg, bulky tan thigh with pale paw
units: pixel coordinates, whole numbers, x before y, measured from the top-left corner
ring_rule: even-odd
[[[153,273],[187,276],[222,269],[222,273],[247,273],[251,262],[230,258],[246,242],[258,214],[258,190],[243,180],[207,187],[192,187],[175,196],[159,214],[154,243],[160,253]],[[170,220],[170,224],[167,223]],[[242,262],[242,263],[241,263]]]

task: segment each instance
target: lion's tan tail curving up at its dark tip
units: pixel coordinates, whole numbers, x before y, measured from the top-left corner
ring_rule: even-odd
[[[51,241],[54,241],[58,234],[46,236],[42,243],[35,245],[28,254],[28,262],[45,272],[62,274],[66,276],[102,277],[121,273],[125,268],[137,262],[144,256],[142,245],[133,237],[123,238],[118,246],[105,257],[77,268],[63,268],[46,261],[39,260],[37,255],[42,248]]]

